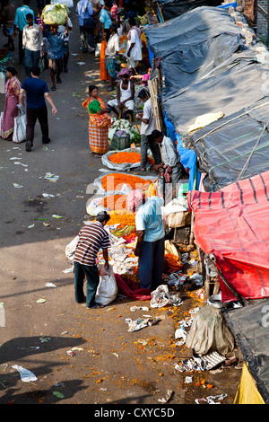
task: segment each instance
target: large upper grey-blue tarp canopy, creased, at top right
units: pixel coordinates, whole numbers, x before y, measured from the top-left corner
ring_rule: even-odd
[[[226,9],[198,7],[144,31],[161,57],[163,110],[180,135],[198,116],[228,116],[265,97],[262,76],[269,66],[256,61],[259,43],[246,45]]]

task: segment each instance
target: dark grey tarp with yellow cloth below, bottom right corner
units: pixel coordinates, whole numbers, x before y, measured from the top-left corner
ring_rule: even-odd
[[[239,344],[247,369],[256,382],[258,392],[265,404],[269,404],[269,300],[257,301],[244,308],[224,311],[223,315]],[[242,373],[242,375],[244,379],[241,381],[244,382],[247,374]],[[239,385],[240,388],[244,388],[244,385]],[[246,393],[247,391],[244,394]],[[251,396],[251,400],[255,397],[257,403],[259,394],[255,391],[254,386]],[[243,391],[238,391],[236,403],[244,404],[243,399],[246,400]],[[250,403],[251,401],[248,401],[247,404]]]

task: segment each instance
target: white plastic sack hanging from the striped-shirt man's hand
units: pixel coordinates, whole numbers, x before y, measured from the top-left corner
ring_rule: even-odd
[[[107,305],[113,302],[117,297],[117,281],[114,276],[113,268],[109,266],[107,275],[100,276],[100,283],[96,291],[95,302]]]

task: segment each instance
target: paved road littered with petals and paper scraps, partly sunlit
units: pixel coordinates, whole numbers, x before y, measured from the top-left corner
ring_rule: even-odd
[[[65,246],[83,224],[86,188],[102,167],[90,153],[82,101],[92,83],[108,97],[106,84],[99,80],[98,59],[80,53],[74,11],[71,18],[70,72],[62,75],[63,84],[52,92],[56,117],[48,106],[51,143],[41,144],[38,125],[30,153],[25,152],[24,143],[0,142],[0,302],[4,303],[0,308],[0,403],[150,405],[160,404],[168,389],[174,391],[171,404],[194,403],[196,397],[209,395],[195,386],[202,378],[214,383],[211,394],[227,392],[226,402],[232,402],[239,371],[194,374],[192,384],[185,384],[185,374],[175,373],[175,362],[190,353],[184,347],[176,349],[175,327],[191,307],[201,304],[195,295],[185,294],[180,309],[151,311],[165,320],[133,333],[127,332],[125,321],[134,319],[130,306],[149,303],[117,300],[89,311],[74,302],[73,276],[63,272],[68,267]],[[16,52],[13,63],[16,66]],[[18,69],[23,81],[24,70]],[[48,71],[41,77],[50,87]],[[3,94],[0,103],[3,109]],[[58,180],[44,180],[47,172],[59,176]],[[22,188],[15,188],[14,183]],[[44,198],[44,193],[54,198]],[[45,302],[38,303],[39,299]],[[69,356],[73,347],[78,348]],[[22,382],[13,365],[29,369],[38,381]]]

